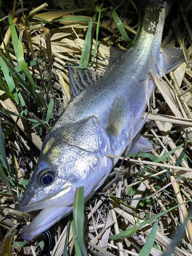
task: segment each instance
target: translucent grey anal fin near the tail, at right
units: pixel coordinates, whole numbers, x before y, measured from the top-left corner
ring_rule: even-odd
[[[160,67],[164,74],[176,69],[184,61],[181,48],[166,45],[160,53]]]

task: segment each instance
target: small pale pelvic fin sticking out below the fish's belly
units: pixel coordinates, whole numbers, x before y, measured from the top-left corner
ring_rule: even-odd
[[[140,150],[142,150],[142,152],[149,152],[153,150],[152,143],[141,135],[139,136],[138,140],[133,144],[131,150],[128,153],[137,154]]]

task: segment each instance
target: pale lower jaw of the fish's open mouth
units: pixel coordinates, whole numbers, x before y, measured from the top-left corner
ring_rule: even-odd
[[[28,209],[30,210],[28,211]],[[56,222],[66,217],[73,210],[73,206],[68,207],[52,207],[45,209],[38,209],[37,211],[31,211],[32,207],[25,207],[22,209],[24,212],[29,212],[32,214],[38,213],[37,216],[32,220],[32,222],[25,227],[20,233],[20,237],[26,241],[30,241],[38,237],[42,232],[49,229]]]

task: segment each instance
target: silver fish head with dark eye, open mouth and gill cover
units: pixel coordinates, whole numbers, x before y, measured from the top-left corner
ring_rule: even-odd
[[[95,116],[67,126],[54,125],[19,205],[23,212],[41,210],[23,229],[25,240],[37,237],[72,211],[76,188],[84,186],[85,200],[95,193],[113,167],[106,153],[113,154],[111,142]]]

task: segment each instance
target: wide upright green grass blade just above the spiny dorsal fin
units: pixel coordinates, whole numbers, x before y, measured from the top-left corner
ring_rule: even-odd
[[[81,58],[79,61],[79,66],[80,67],[83,66],[84,68],[87,68],[89,57],[90,57],[92,26],[93,26],[93,22],[92,22],[92,20],[90,20],[86,38],[84,39],[84,45],[83,45],[83,49],[82,49],[82,53],[81,53]]]

